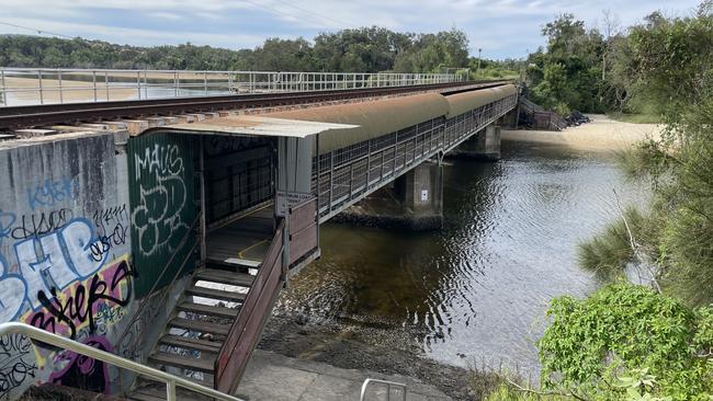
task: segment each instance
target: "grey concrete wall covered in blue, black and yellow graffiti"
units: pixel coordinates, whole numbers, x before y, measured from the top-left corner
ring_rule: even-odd
[[[0,322],[26,322],[118,352],[134,314],[126,137],[0,142]],[[116,371],[0,337],[0,400],[36,381],[116,390]]]

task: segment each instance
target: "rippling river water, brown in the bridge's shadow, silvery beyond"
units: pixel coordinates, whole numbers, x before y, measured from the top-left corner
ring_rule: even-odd
[[[321,260],[281,297],[301,316],[362,341],[468,366],[536,373],[534,342],[553,297],[599,283],[576,245],[641,203],[611,154],[503,142],[497,163],[449,161],[441,231],[397,232],[325,225]]]

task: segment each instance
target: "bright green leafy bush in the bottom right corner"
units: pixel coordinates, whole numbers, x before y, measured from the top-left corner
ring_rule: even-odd
[[[557,298],[547,314],[552,323],[537,343],[545,390],[637,399],[636,383],[638,399],[713,396],[710,308],[616,284],[585,300]]]

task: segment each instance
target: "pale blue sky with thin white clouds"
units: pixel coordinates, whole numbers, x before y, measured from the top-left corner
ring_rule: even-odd
[[[253,48],[268,37],[314,38],[378,25],[399,32],[463,30],[471,55],[524,57],[544,45],[542,25],[573,13],[601,26],[609,10],[622,27],[652,11],[691,14],[701,0],[0,0],[0,34],[81,36],[129,45],[190,42]],[[20,25],[31,30],[10,26]],[[49,32],[49,33],[45,33]]]

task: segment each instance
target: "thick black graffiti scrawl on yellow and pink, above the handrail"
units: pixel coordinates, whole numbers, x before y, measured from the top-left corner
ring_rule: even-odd
[[[67,333],[71,339],[77,337],[78,326],[86,323],[89,333],[94,334],[97,314],[101,310],[128,305],[132,296],[128,280],[132,275],[128,263],[122,261],[64,294],[58,294],[55,288],[50,289],[50,296],[39,291],[37,298],[43,309],[31,314],[27,321],[52,333]],[[102,313],[106,314],[105,311]]]

